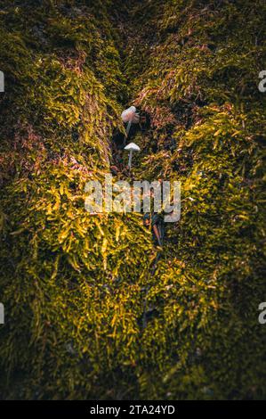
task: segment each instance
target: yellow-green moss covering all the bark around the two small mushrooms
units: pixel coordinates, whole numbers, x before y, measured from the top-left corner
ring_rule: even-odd
[[[265,397],[265,12],[4,1],[3,398]],[[84,208],[126,103],[151,119],[133,176],[181,180],[155,275],[141,217]]]

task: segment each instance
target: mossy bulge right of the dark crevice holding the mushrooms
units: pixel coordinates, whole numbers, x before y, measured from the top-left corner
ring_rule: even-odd
[[[157,40],[133,87],[153,125],[141,173],[178,177],[182,200],[148,295],[158,311],[149,333],[155,327],[157,341],[169,339],[173,349],[157,374],[167,385],[151,390],[148,380],[143,396],[165,398],[171,388],[173,398],[262,398],[265,103],[257,83],[265,8],[174,1],[155,8],[147,34],[156,27]]]

